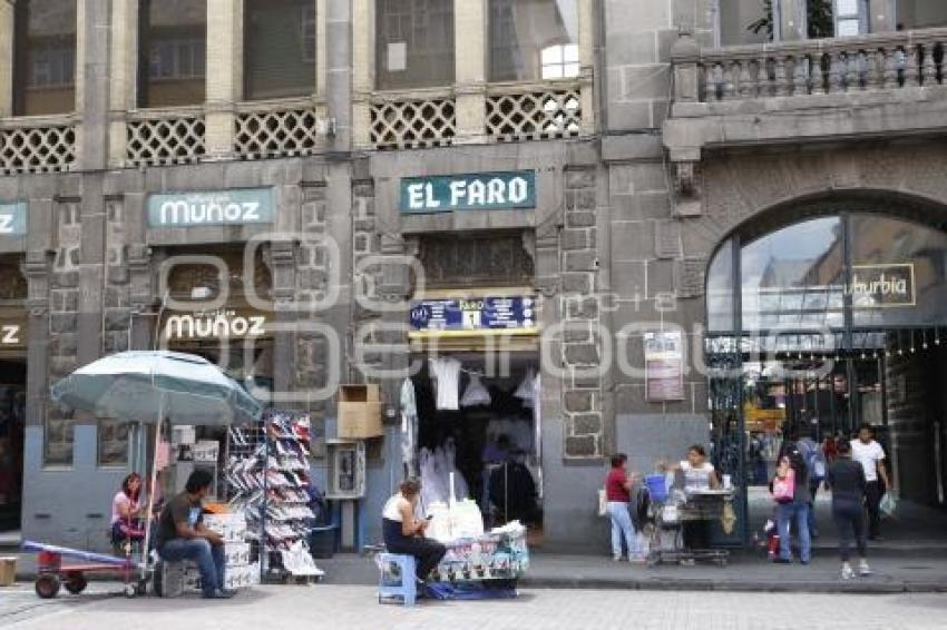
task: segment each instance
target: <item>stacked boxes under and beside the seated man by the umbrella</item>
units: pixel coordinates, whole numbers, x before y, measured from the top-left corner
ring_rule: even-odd
[[[260,583],[260,564],[251,562],[246,519],[241,512],[204,514],[204,524],[224,539],[224,589],[245,589]],[[162,563],[162,597],[201,592],[201,571],[191,560]]]

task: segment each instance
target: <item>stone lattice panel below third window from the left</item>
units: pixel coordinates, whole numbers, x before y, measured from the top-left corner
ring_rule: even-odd
[[[254,111],[236,119],[236,152],[246,159],[310,155],[319,118],[311,109]]]

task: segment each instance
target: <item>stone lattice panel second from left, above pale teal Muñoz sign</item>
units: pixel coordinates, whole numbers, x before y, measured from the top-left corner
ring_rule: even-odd
[[[128,166],[163,166],[197,161],[206,152],[199,117],[133,120],[126,126]]]

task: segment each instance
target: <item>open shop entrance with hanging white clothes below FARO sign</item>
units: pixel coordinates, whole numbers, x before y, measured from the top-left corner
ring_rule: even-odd
[[[411,382],[422,501],[449,502],[453,473],[453,499],[476,501],[486,528],[518,520],[537,541],[543,528],[538,352],[412,358],[420,367]],[[457,395],[445,395],[446,388],[456,388]]]

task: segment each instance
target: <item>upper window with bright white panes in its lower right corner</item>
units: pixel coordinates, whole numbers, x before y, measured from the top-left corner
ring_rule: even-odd
[[[490,0],[490,80],[577,77],[576,0]]]

